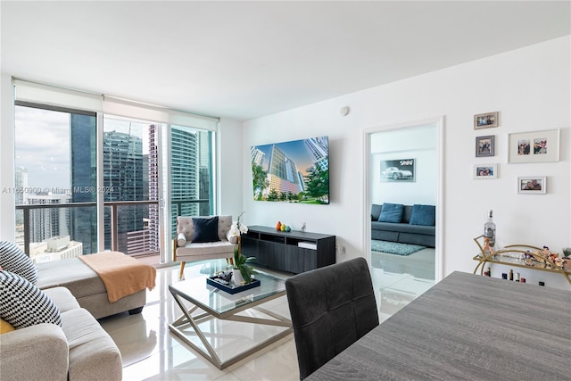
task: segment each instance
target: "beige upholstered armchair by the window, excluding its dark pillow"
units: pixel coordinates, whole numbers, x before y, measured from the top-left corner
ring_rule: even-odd
[[[217,258],[233,258],[237,236],[230,233],[232,216],[198,216],[194,219],[212,219],[218,217],[218,240],[211,242],[193,242],[193,217],[177,217],[177,236],[174,238],[173,251],[175,261],[180,261],[182,279],[186,261],[203,261]]]

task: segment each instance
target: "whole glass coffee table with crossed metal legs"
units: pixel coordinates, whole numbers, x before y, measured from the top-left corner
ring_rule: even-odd
[[[206,278],[211,275],[169,286],[170,294],[183,311],[169,329],[219,369],[243,360],[292,332],[290,319],[261,307],[261,304],[285,295],[283,279],[259,271],[255,278],[260,280],[260,286],[229,294],[206,283]],[[211,322],[206,323],[209,320]],[[233,327],[222,320],[249,324],[234,324]],[[255,339],[245,348],[237,343],[248,342],[252,337]]]

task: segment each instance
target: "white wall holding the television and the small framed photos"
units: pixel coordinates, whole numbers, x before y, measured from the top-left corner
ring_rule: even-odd
[[[570,45],[571,37],[561,37],[245,122],[244,153],[251,145],[329,136],[331,180],[330,205],[254,202],[245,181],[247,222],[273,226],[280,219],[299,228],[307,221],[308,230],[335,234],[347,245],[337,261],[365,256],[364,131],[444,115],[443,274],[474,270],[472,239],[481,234],[488,209],[498,244],[548,244],[560,253],[571,246]],[[345,105],[352,111],[342,117]],[[500,127],[474,130],[476,113],[494,111]],[[508,163],[509,133],[553,128],[561,128],[559,162]],[[482,135],[496,136],[494,157],[475,157],[475,137]],[[250,178],[248,155],[242,160],[243,176]],[[473,179],[473,165],[482,162],[498,163],[499,178]],[[523,175],[547,176],[548,194],[517,195]]]

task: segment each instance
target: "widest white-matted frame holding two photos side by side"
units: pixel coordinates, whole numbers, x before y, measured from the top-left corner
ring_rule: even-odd
[[[559,162],[559,129],[509,134],[509,162]]]

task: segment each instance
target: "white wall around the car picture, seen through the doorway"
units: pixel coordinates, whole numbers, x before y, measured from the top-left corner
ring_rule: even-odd
[[[436,204],[436,127],[420,126],[377,132],[370,136],[371,203]],[[415,160],[415,180],[381,181],[381,161]]]

